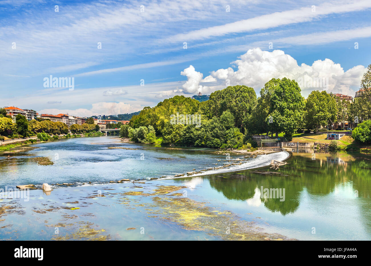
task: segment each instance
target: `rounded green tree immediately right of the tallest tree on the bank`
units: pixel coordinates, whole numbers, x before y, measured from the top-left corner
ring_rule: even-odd
[[[307,129],[318,129],[336,117],[336,101],[326,91],[312,91],[305,101],[304,121]]]

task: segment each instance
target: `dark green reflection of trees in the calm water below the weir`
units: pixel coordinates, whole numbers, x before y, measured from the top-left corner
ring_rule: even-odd
[[[336,157],[336,154],[332,155]],[[253,198],[255,189],[260,190],[261,186],[268,189],[285,188],[285,201],[280,201],[278,196],[275,199],[261,199],[267,209],[283,215],[296,211],[303,189],[306,189],[310,195],[324,196],[333,192],[337,185],[351,182],[354,191],[358,190],[360,198],[370,198],[371,160],[356,158],[347,164],[338,162],[336,158],[312,160],[308,156],[296,155],[289,159],[289,165],[278,170],[264,167],[213,175],[210,177],[210,185],[223,193],[226,198],[239,201]],[[266,171],[279,174],[261,173]],[[352,197],[353,194],[349,196]]]

